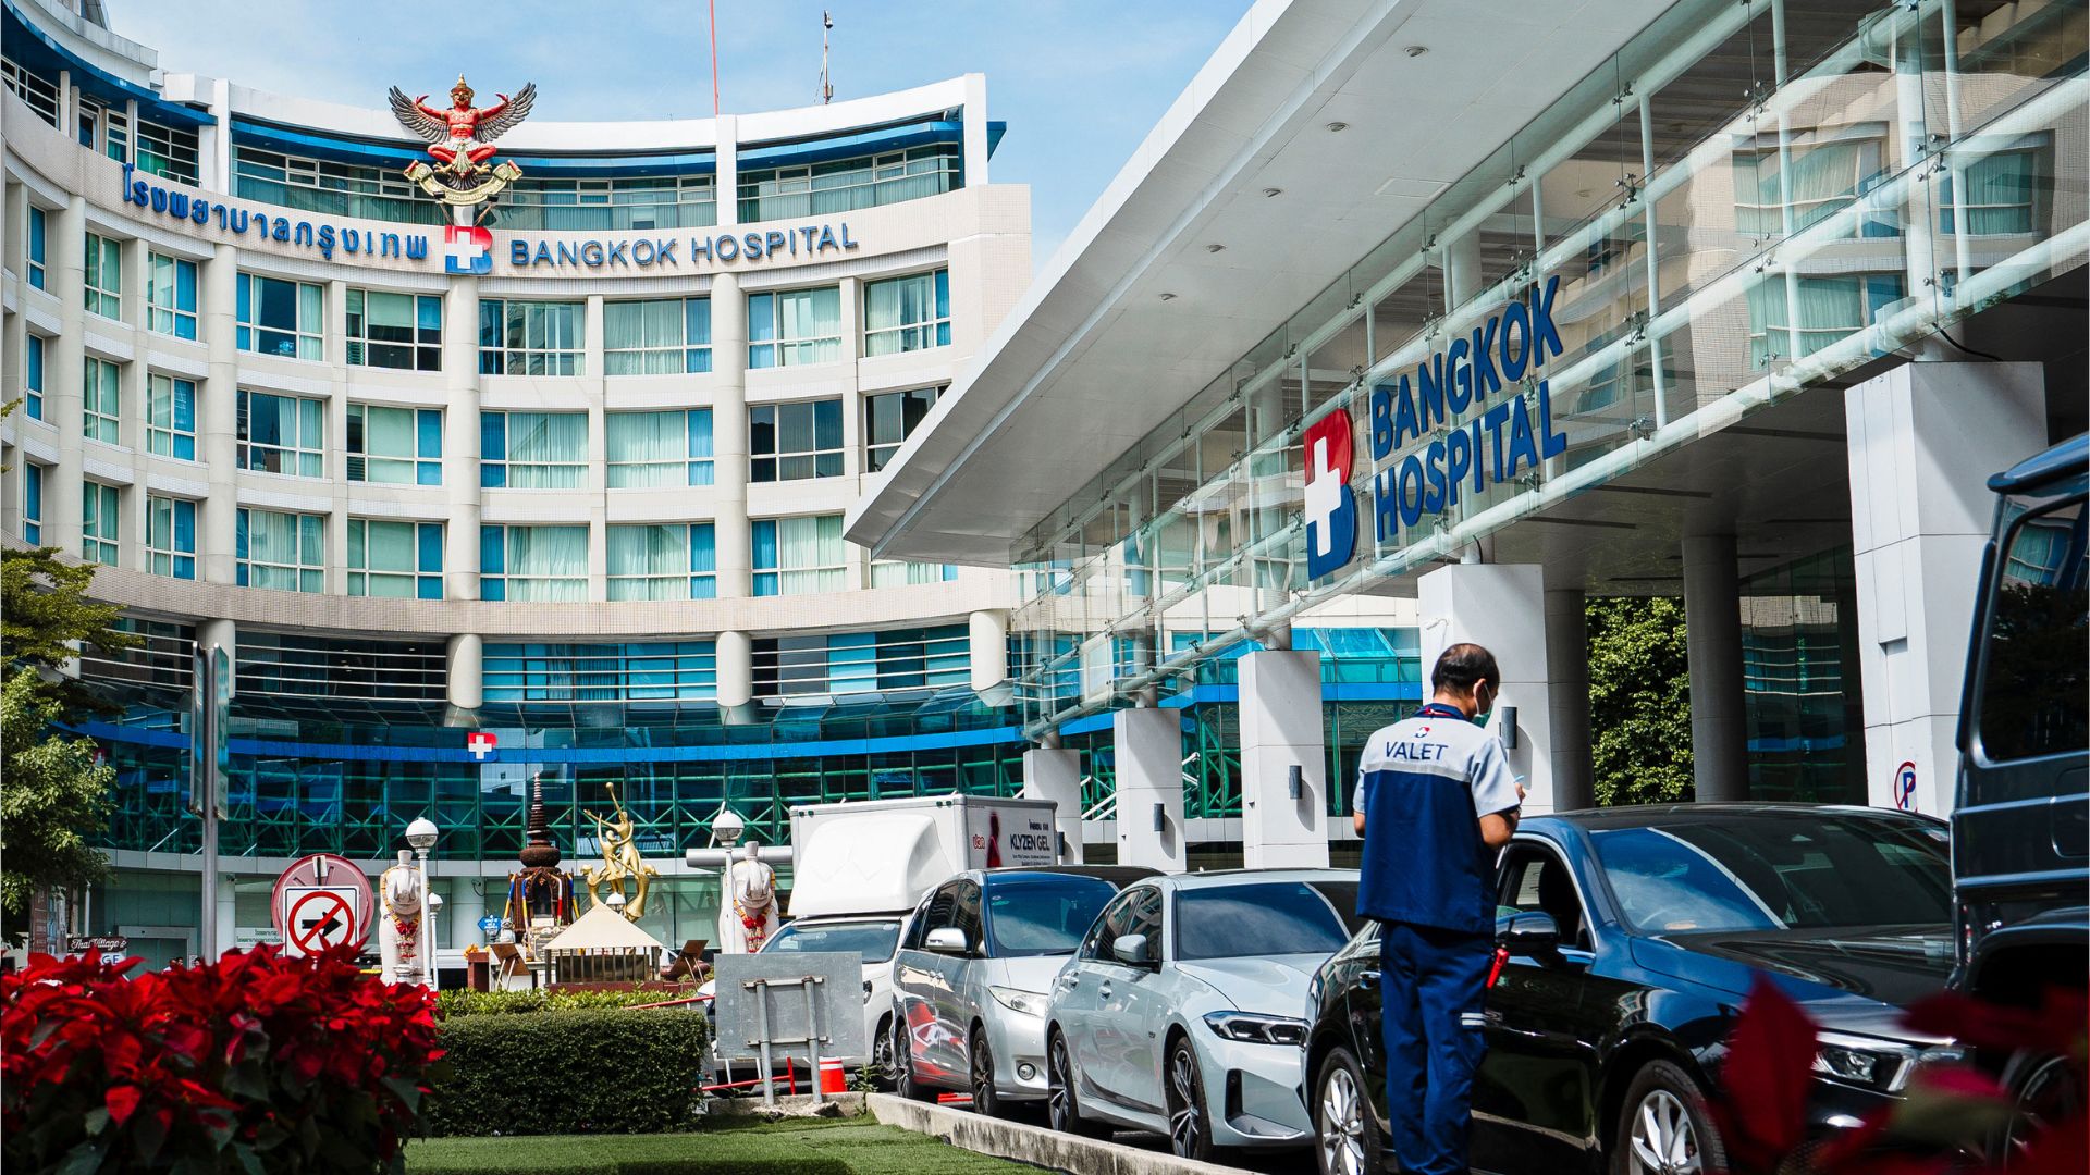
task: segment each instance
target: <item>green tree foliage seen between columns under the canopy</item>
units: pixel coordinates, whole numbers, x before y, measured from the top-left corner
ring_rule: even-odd
[[[1597,803],[1691,799],[1691,665],[1682,600],[1588,602]]]

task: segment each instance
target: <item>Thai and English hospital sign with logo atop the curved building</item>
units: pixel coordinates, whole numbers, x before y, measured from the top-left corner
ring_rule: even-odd
[[[150,222],[192,236],[255,243],[293,255],[370,257],[443,266],[447,274],[491,274],[500,257],[510,272],[587,276],[740,270],[767,263],[832,261],[857,251],[849,222],[817,222],[757,232],[617,234],[589,238],[495,234],[466,226],[341,224],[276,205],[226,201],[167,184],[123,163],[123,205]],[[418,230],[418,232],[416,232]],[[431,236],[437,247],[431,249]]]

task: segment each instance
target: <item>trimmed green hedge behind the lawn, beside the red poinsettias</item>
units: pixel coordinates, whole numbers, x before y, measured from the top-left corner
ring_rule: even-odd
[[[451,1079],[431,1135],[650,1133],[694,1125],[704,1016],[679,1008],[464,1014],[443,1020]]]

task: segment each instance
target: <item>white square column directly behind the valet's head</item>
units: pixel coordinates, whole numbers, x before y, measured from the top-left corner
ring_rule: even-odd
[[[1430,671],[1453,644],[1480,644],[1503,671],[1503,696],[1488,725],[1509,746],[1524,778],[1526,813],[1555,809],[1553,673],[1545,633],[1545,573],[1536,565],[1461,562],[1415,581],[1421,619],[1423,694]],[[1509,725],[1511,711],[1515,721]]]

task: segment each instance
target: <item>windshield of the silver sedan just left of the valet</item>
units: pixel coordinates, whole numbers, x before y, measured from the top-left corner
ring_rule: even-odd
[[[1246,882],[1177,893],[1177,960],[1331,955],[1350,941],[1356,882]]]

